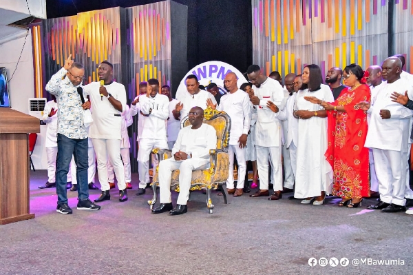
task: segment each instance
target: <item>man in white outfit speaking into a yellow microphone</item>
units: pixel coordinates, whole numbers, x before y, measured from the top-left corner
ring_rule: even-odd
[[[92,103],[93,123],[89,128],[89,137],[98,160],[98,177],[102,194],[95,202],[110,199],[110,186],[107,175],[107,159],[114,166],[118,180],[119,201],[127,201],[125,171],[120,158],[120,141],[122,140],[122,112],[125,111],[125,86],[114,81],[112,63],[103,61],[98,67],[100,82],[84,86],[85,94]]]

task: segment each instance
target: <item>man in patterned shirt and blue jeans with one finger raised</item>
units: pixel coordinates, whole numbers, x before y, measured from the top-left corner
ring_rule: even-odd
[[[83,110],[90,108],[84,102],[82,81],[85,68],[72,60],[72,54],[65,65],[56,72],[46,85],[47,92],[56,96],[57,113],[57,158],[56,158],[56,212],[72,214],[67,205],[66,181],[72,155],[77,166],[78,210],[99,210],[100,206],[89,200],[87,182],[87,130],[83,124]]]

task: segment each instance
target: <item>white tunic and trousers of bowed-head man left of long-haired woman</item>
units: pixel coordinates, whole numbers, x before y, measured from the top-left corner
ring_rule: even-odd
[[[279,119],[284,116],[284,90],[278,81],[267,77],[257,88],[253,85],[255,96],[260,99],[257,108],[257,123],[255,125],[255,149],[257,152],[257,168],[260,175],[260,190],[268,190],[268,160],[271,161],[271,178],[274,191],[283,189],[282,184],[282,125]],[[279,108],[275,113],[267,107],[272,101]],[[284,118],[285,119],[285,118]],[[269,159],[268,159],[269,156]]]

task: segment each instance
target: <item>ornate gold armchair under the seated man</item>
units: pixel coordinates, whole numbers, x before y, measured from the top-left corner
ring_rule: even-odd
[[[210,150],[211,166],[207,170],[195,170],[192,172],[191,191],[193,190],[207,190],[207,207],[209,213],[213,212],[213,204],[211,200],[211,190],[216,190],[220,186],[222,194],[224,196],[224,203],[229,204],[229,194],[226,190],[226,179],[229,174],[229,155],[228,155],[228,142],[229,142],[229,130],[231,129],[231,119],[225,112],[219,112],[211,108],[204,110],[204,123],[207,123],[217,131],[217,149]],[[188,117],[184,119],[183,126],[191,125]],[[153,153],[158,155],[159,161],[169,159],[171,156],[171,150],[167,149],[153,149]],[[158,181],[158,168],[156,167],[156,173],[153,176],[151,187],[153,190],[153,198],[148,201],[151,209],[156,203],[157,190],[159,186]],[[171,190],[179,192],[179,170],[172,172]]]

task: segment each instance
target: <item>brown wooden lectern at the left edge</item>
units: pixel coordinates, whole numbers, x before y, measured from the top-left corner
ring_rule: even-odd
[[[39,119],[0,108],[0,225],[34,218],[30,214],[28,133],[39,132]]]

